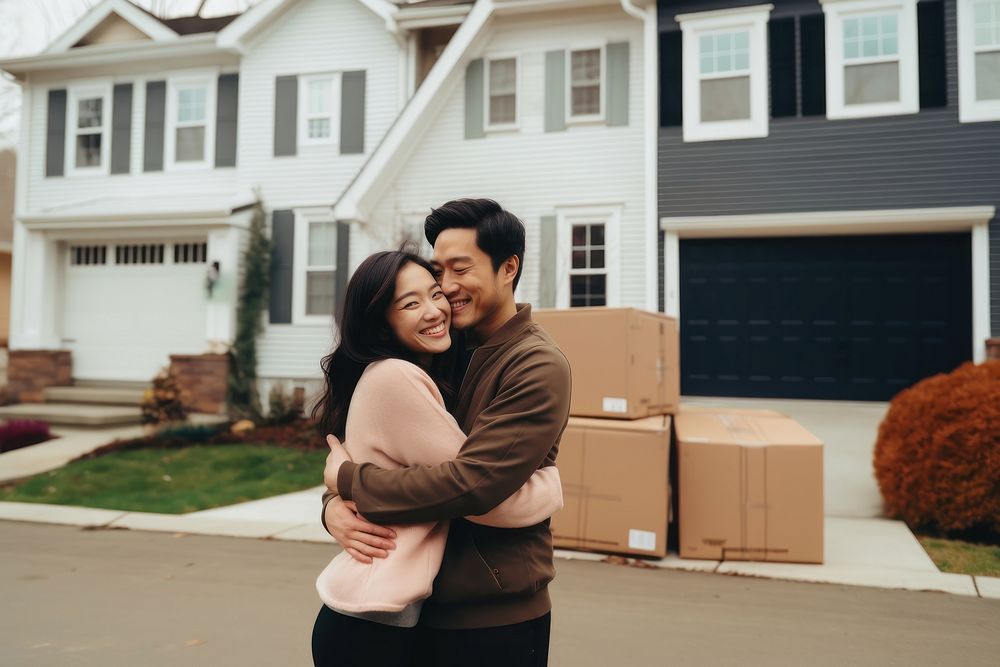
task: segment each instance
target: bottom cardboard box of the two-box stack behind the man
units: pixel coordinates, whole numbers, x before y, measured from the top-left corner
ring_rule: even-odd
[[[571,417],[557,464],[565,505],[556,547],[665,556],[670,519],[670,417]]]

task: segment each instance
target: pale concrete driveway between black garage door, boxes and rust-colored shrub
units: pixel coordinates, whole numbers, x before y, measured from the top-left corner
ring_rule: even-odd
[[[823,441],[823,490],[826,516],[881,518],[882,494],[872,457],[878,426],[888,403],[796,401],[757,398],[683,397],[682,404],[776,410]]]

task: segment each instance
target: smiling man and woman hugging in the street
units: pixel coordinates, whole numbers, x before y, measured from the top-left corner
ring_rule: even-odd
[[[358,267],[323,360],[323,524],[344,551],[316,581],[313,660],[545,665],[569,362],[514,302],[515,215],[459,199],[424,232],[432,262]]]

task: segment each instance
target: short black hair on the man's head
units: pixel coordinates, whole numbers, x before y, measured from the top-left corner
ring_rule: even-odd
[[[493,271],[499,271],[511,255],[517,256],[517,275],[524,268],[524,223],[492,199],[452,199],[433,209],[424,221],[424,235],[431,245],[446,229],[475,229],[476,245],[490,256]]]

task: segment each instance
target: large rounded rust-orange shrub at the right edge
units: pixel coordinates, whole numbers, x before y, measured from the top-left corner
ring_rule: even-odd
[[[1000,361],[900,392],[875,443],[888,514],[938,532],[1000,533]]]

